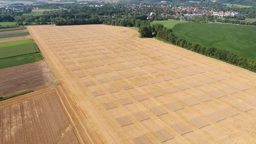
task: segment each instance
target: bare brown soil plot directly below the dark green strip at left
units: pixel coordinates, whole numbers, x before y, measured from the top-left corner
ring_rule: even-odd
[[[56,83],[44,60],[0,69],[0,96],[30,91]]]

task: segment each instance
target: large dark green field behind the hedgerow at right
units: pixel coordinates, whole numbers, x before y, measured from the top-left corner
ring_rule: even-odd
[[[180,23],[172,28],[179,38],[203,46],[216,46],[256,60],[256,27],[221,23]]]

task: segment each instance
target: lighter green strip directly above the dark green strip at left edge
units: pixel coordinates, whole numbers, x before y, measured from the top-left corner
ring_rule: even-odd
[[[0,48],[0,59],[40,52],[36,43],[19,44]]]

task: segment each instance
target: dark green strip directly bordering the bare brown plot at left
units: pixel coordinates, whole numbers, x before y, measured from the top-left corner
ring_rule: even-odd
[[[21,64],[28,64],[28,63],[36,62],[42,59],[44,59],[44,57],[43,55],[41,55],[41,53],[33,53],[28,55],[20,55],[17,57],[0,59],[0,69],[8,68],[11,66],[18,66]]]

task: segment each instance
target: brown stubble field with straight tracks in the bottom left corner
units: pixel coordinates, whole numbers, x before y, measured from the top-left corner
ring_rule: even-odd
[[[79,144],[59,94],[53,87],[1,101],[0,144]]]

